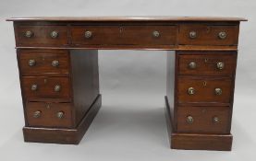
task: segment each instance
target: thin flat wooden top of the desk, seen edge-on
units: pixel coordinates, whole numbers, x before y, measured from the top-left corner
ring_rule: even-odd
[[[247,21],[243,17],[11,17],[7,21]]]

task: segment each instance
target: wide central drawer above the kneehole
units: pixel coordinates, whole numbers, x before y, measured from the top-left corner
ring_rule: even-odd
[[[176,26],[73,26],[74,45],[175,45]]]

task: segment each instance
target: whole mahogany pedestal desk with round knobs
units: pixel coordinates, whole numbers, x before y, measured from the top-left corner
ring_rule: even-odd
[[[97,50],[167,53],[171,148],[231,150],[238,17],[20,17],[26,142],[79,144],[101,107]],[[171,79],[175,77],[175,79]]]

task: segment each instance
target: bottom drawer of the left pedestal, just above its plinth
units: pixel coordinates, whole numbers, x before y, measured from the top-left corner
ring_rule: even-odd
[[[72,127],[70,103],[28,102],[26,115],[29,126]]]

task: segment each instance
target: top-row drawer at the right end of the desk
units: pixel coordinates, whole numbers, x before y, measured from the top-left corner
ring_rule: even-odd
[[[238,45],[238,26],[180,25],[178,44]]]

